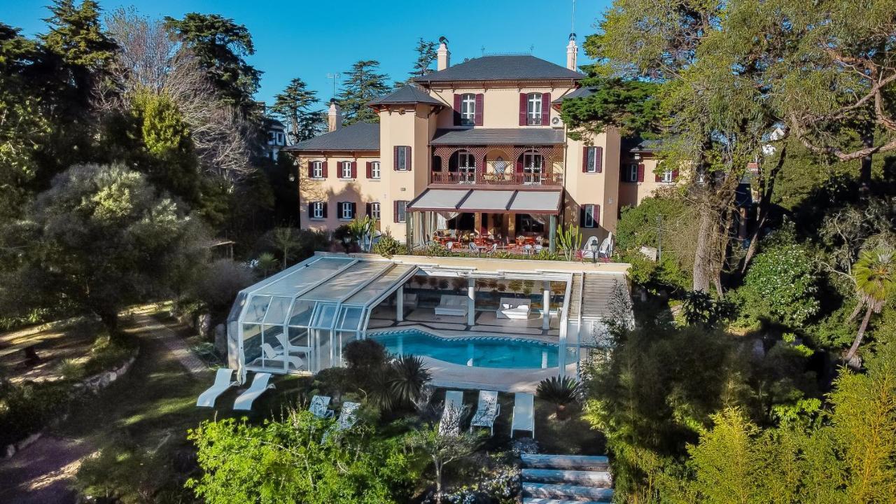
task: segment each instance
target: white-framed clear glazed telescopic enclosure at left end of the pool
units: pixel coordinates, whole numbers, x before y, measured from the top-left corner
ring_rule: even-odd
[[[228,316],[229,367],[244,378],[246,371],[340,366],[342,348],[364,337],[371,310],[417,271],[387,260],[314,256],[240,291]]]

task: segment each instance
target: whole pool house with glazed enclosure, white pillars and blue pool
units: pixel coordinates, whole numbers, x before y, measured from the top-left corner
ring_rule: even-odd
[[[434,383],[534,391],[578,376],[607,344],[628,265],[480,257],[318,253],[237,296],[228,367],[313,374],[342,365],[346,344],[373,338],[421,356]]]

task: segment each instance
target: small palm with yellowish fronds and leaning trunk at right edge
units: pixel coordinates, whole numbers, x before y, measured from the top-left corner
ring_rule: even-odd
[[[887,297],[896,289],[896,256],[889,247],[877,247],[874,250],[864,250],[858,257],[858,261],[852,268],[853,278],[856,281],[856,294],[858,295],[859,308],[865,307],[865,317],[861,326],[858,326],[856,341],[846,354],[849,362],[855,357],[858,346],[862,344],[868,320],[872,313],[880,313]]]

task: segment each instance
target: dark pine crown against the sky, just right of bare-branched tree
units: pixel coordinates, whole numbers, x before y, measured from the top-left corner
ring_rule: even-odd
[[[262,73],[246,63],[255,54],[246,25],[219,14],[188,13],[165,18],[165,26],[191,48],[222,98],[242,109],[252,104]]]

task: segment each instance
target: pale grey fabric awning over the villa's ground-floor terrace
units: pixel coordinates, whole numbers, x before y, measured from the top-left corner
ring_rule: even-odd
[[[547,190],[426,189],[408,212],[560,213],[562,192]]]

